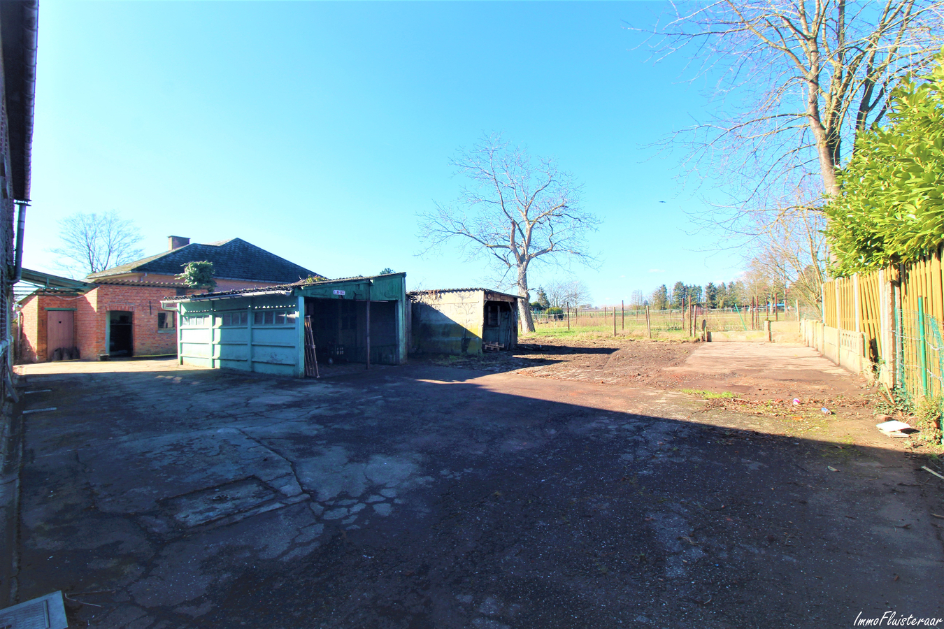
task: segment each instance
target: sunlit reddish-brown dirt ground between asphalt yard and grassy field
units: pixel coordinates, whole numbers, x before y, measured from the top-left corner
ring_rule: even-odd
[[[919,439],[889,439],[875,430],[876,414],[885,412],[877,410],[881,392],[801,345],[531,337],[514,352],[421,360],[542,380],[681,391],[704,400],[705,412],[752,416],[769,435],[830,440],[839,450],[935,451]]]

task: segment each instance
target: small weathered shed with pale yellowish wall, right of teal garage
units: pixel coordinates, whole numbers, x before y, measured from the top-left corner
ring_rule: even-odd
[[[484,349],[517,346],[517,295],[445,289],[419,290],[409,293],[409,298],[415,353],[481,354]]]

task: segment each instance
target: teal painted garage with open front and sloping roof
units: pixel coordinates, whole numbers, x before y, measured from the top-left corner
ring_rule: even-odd
[[[303,377],[319,360],[397,365],[407,358],[406,273],[169,297],[181,365]]]

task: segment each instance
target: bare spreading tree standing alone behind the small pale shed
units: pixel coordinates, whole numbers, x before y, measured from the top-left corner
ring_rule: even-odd
[[[470,185],[455,205],[437,204],[434,212],[421,215],[427,251],[455,240],[467,259],[486,257],[500,281],[513,284],[523,297],[518,300],[521,321],[533,332],[531,264],[594,264],[585,239],[599,221],[581,207],[581,187],[570,174],[550,159],[532,159],[498,136],[483,138],[452,164]]]

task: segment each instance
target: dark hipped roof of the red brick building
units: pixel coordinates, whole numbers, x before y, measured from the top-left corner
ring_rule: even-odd
[[[165,251],[157,256],[143,257],[99,273],[92,273],[86,279],[103,280],[124,273],[177,275],[183,273],[183,268],[188,262],[203,260],[213,263],[213,277],[216,279],[243,279],[253,282],[289,284],[310,275],[323,277],[319,273],[300,267],[250,242],[234,238],[211,244],[194,242],[173,251]]]

